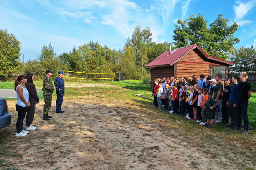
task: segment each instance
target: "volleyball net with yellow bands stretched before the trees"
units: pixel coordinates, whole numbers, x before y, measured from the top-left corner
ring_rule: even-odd
[[[64,71],[64,76],[73,79],[115,79],[116,73],[84,73],[77,71]]]

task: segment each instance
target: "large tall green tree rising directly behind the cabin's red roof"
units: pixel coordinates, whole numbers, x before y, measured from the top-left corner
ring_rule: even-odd
[[[192,14],[185,20],[178,19],[173,30],[173,43],[177,48],[198,44],[209,56],[227,59],[233,45],[239,42],[239,38],[233,36],[239,26],[235,22],[229,25],[229,21],[223,14],[219,14],[209,26],[201,14]]]

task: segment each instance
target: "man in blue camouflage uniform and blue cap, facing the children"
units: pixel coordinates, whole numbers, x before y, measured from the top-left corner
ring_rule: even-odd
[[[61,105],[63,102],[63,95],[64,95],[64,80],[62,77],[64,76],[63,71],[58,72],[58,77],[54,81],[54,85],[56,87],[56,94],[57,94],[57,100],[56,100],[56,113],[64,113],[64,111],[61,111]]]

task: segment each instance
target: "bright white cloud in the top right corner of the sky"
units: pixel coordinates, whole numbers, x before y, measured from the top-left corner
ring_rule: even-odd
[[[256,0],[250,0],[247,3],[241,3],[241,1],[236,2],[238,6],[234,6],[236,13],[236,20],[241,20],[248,11],[256,6]]]

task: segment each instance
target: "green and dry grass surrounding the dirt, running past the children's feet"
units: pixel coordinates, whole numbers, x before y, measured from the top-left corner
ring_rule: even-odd
[[[69,82],[66,81],[66,85],[68,83]],[[93,83],[94,86],[90,86],[90,83]],[[254,144],[256,142],[256,138],[255,138],[256,130],[254,129],[250,128],[250,133],[246,135],[242,135],[240,133],[240,130],[233,131],[233,130],[230,130],[230,128],[226,128],[222,125],[214,124],[214,128],[209,130],[205,127],[199,126],[197,122],[190,121],[185,117],[181,117],[175,114],[170,114],[169,112],[166,112],[166,111],[156,111],[153,109],[154,105],[151,101],[134,95],[134,94],[143,94],[143,96],[148,96],[149,98],[152,98],[151,89],[149,88],[149,85],[143,85],[142,81],[125,80],[125,81],[122,81],[120,85],[119,85],[119,82],[113,82],[113,81],[104,82],[103,84],[111,85],[110,87],[107,87],[107,88],[101,87],[102,82],[84,81],[84,84],[87,84],[88,86],[66,88],[65,100],[68,100],[69,98],[72,100],[72,99],[75,99],[76,97],[79,98],[81,96],[90,96],[94,99],[101,99],[103,96],[105,98],[104,102],[106,102],[106,100],[108,100],[108,102],[109,101],[113,103],[116,102],[116,105],[117,105],[116,107],[119,107],[119,109],[127,110],[130,108],[133,108],[134,109],[133,112],[140,113],[140,115],[142,115],[141,117],[144,116],[147,119],[150,119],[152,123],[159,125],[159,128],[161,130],[159,131],[160,133],[168,133],[169,136],[173,137],[173,139],[177,139],[177,141],[180,140],[182,143],[186,142],[188,145],[188,149],[190,149],[191,147],[193,148],[193,152],[197,153],[200,151],[204,153],[203,156],[211,157],[211,160],[213,161],[212,163],[215,163],[214,161],[216,162],[218,161],[218,164],[223,164],[223,166],[225,166],[226,162],[228,162],[229,164],[235,164],[237,166],[237,169],[244,169],[244,170],[253,169],[253,168],[250,168],[250,165],[256,166],[256,154],[255,154],[255,147],[254,147]],[[99,86],[95,86],[95,84],[99,84]],[[35,85],[37,87],[41,87],[41,81],[35,81]],[[0,82],[0,88],[14,88],[14,82],[11,82],[11,83]],[[42,91],[38,95],[40,95],[41,97]],[[56,98],[55,93],[53,98]],[[125,105],[119,106],[118,105],[119,99],[120,101],[124,101],[126,106]],[[83,107],[83,105],[81,105],[81,107]],[[113,107],[113,109],[115,109],[115,107]],[[250,123],[250,126],[253,126],[253,127],[256,127],[256,122],[255,122],[256,117],[255,117],[255,114],[253,113],[255,109],[256,109],[256,94],[253,94],[253,96],[250,98],[250,105],[248,107],[248,116],[250,121],[249,123]],[[104,108],[102,110],[104,110]],[[86,113],[86,114],[90,115],[89,113]],[[134,119],[132,120],[133,122],[135,122],[134,125],[139,123],[139,122],[136,122],[137,118],[133,117],[132,115],[127,115],[122,117],[122,116],[118,116],[119,114],[122,115],[122,111],[113,114],[111,117],[108,117],[108,119],[111,119],[112,117],[123,119],[123,121],[125,121],[126,119],[129,119],[130,121]],[[93,118],[90,118],[90,119],[93,120]],[[97,119],[97,117],[94,117],[94,119]],[[40,120],[40,123],[41,123],[41,120]],[[125,124],[129,124],[129,122],[125,122]],[[61,129],[61,126],[65,126],[66,128],[68,128],[67,126],[69,125],[71,127],[73,126],[71,125],[71,123],[66,123],[66,122],[63,123],[63,125],[58,124],[58,122],[56,122],[56,125],[60,127],[60,130],[63,130]],[[141,127],[141,125],[140,126],[137,125],[137,126]],[[104,128],[105,127],[102,127],[102,129]],[[81,129],[84,130],[85,127],[82,127]],[[3,130],[6,130],[6,129],[3,129]],[[73,133],[73,131],[76,129],[71,129],[71,130],[70,130],[70,133]],[[130,131],[132,130],[133,129],[131,129]],[[172,132],[175,132],[175,134],[177,133],[177,136],[175,136],[175,134]],[[147,133],[148,132],[145,130],[145,136],[140,136],[140,137],[147,138]],[[47,133],[44,134],[43,136],[45,135],[47,135]],[[55,137],[58,139],[58,136],[55,136]],[[67,137],[67,135],[65,135],[64,137]],[[9,137],[9,138],[13,138],[13,137]],[[12,143],[11,144],[8,143],[9,138],[3,137],[0,139],[0,157],[12,158],[12,160],[14,160],[13,158],[16,158],[16,157],[17,159],[19,159],[19,157],[25,158],[26,157],[26,154],[24,154],[25,151],[17,150],[17,144],[15,145]],[[130,136],[127,136],[127,140],[129,138]],[[152,135],[152,138],[154,138],[153,135]],[[67,140],[67,139],[68,138],[64,138],[64,140]],[[31,139],[31,142],[33,140],[34,139]],[[142,140],[141,144],[143,144],[144,139],[141,139],[141,140]],[[104,141],[102,141],[102,143],[103,142]],[[94,140],[93,140],[93,143],[95,144]],[[170,146],[171,146],[171,143],[172,142],[170,142]],[[38,146],[41,147],[40,145]],[[122,144],[122,147],[123,146],[124,145]],[[34,147],[34,146],[31,145],[29,147]],[[38,147],[38,150],[43,149],[39,147]],[[61,147],[63,147],[66,150],[64,146],[61,146]],[[111,145],[111,147],[115,147],[115,146]],[[175,150],[175,147],[174,147],[174,150]],[[54,149],[51,149],[51,150],[48,149],[42,152],[53,153],[52,155],[55,156]],[[61,155],[60,152],[58,152],[58,154],[60,154],[59,157],[63,156]],[[134,153],[132,153],[131,155],[133,154]],[[224,158],[224,159],[221,160],[221,158]],[[192,158],[192,159],[196,160],[199,158]],[[2,167],[4,168],[13,167],[14,169],[16,165],[12,165],[11,164],[12,162],[7,160],[8,159],[6,160],[0,159],[0,167],[3,165]],[[176,160],[173,160],[173,161],[176,161]],[[219,161],[221,162],[219,163]],[[53,164],[52,166],[55,166],[55,162],[51,162],[51,163]],[[8,167],[6,164],[9,164],[10,166]],[[19,166],[22,167],[22,165],[19,165]]]

